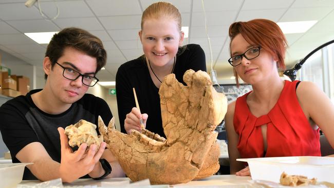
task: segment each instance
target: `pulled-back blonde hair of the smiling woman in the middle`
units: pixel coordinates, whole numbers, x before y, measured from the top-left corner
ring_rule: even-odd
[[[143,29],[145,20],[150,18],[158,19],[161,17],[175,20],[179,31],[181,31],[181,14],[174,5],[168,2],[157,2],[147,7],[141,16],[141,29]]]

